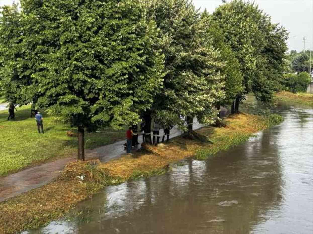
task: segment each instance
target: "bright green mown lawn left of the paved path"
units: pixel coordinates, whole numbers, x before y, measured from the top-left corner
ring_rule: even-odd
[[[0,176],[17,172],[27,166],[64,158],[77,152],[77,138],[69,137],[69,125],[56,122],[42,113],[45,134],[39,134],[30,106],[17,107],[15,121],[8,121],[8,110],[0,111]],[[125,131],[103,130],[114,133],[86,133],[87,149],[125,139]]]

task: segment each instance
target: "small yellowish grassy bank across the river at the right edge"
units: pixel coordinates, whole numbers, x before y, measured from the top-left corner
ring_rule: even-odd
[[[313,94],[280,92],[275,95],[275,100],[294,104],[302,107],[313,107]]]

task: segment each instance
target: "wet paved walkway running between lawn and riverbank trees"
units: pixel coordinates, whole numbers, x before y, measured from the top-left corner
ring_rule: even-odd
[[[202,127],[202,125],[194,120],[193,129],[198,129],[200,127]],[[170,138],[177,137],[181,134],[180,130],[173,127]],[[162,130],[160,131],[160,135],[163,135]],[[138,141],[139,143],[142,143],[142,136],[138,137]],[[160,141],[162,141],[162,138]],[[126,155],[126,151],[123,146],[124,143],[125,141],[119,141],[114,144],[95,148],[93,150],[86,150],[85,158],[99,158],[101,162],[107,162],[111,159],[119,158]],[[140,147],[137,147],[132,151],[136,151],[138,148]],[[0,201],[7,200],[11,197],[47,184],[59,175],[59,173],[56,172],[63,170],[67,163],[75,160],[76,157],[74,156],[71,158],[58,159],[54,162],[25,169],[6,177],[0,177]]]

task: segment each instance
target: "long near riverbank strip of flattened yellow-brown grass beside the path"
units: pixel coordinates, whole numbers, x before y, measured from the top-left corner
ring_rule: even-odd
[[[177,137],[167,144],[148,147],[153,153],[142,151],[105,164],[97,160],[68,164],[56,181],[0,203],[0,233],[15,233],[44,225],[64,216],[75,204],[104,186],[162,174],[169,164],[194,155],[196,159],[212,157],[218,151],[242,143],[254,133],[281,121],[282,117],[278,115],[232,115],[226,119],[224,128],[197,130],[197,133],[210,138],[213,144]],[[83,180],[77,178],[81,175],[85,176]]]

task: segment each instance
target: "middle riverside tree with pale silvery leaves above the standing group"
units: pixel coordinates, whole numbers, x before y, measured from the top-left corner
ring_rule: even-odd
[[[160,29],[159,48],[165,55],[163,89],[157,93],[147,122],[156,115],[159,122],[180,124],[179,115],[204,124],[214,122],[214,104],[224,98],[219,70],[219,52],[206,38],[200,13],[189,0],[146,0],[149,17]],[[149,124],[148,124],[149,125]],[[147,130],[150,132],[150,129]]]

